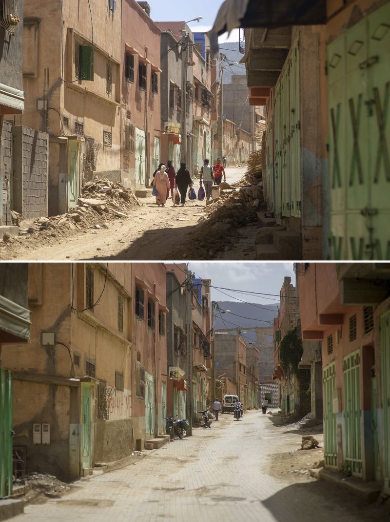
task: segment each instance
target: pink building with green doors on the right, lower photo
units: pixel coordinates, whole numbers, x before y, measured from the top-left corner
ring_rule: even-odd
[[[306,264],[299,292],[302,337],[322,342],[325,466],[388,494],[390,272],[375,263]]]

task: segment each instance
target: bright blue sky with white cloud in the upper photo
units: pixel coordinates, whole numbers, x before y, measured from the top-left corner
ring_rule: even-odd
[[[193,31],[208,31],[215,20],[222,0],[197,0],[197,2],[185,2],[181,0],[148,0],[150,5],[150,16],[155,21],[191,20],[197,16],[203,19],[199,23],[191,22],[189,27]],[[234,30],[227,39],[227,33],[222,35],[218,42],[238,42],[238,30]]]

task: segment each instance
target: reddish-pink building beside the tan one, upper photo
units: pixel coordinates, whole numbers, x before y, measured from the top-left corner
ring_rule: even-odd
[[[123,0],[120,168],[124,185],[139,195],[160,162],[160,38],[148,2]]]

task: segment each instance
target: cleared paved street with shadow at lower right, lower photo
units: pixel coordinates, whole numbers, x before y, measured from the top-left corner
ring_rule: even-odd
[[[274,410],[275,412],[275,410]],[[291,455],[309,465],[322,455],[297,452],[302,430],[275,426],[261,410],[242,421],[223,414],[211,430],[136,457],[132,464],[82,479],[67,495],[27,505],[15,522],[41,520],[264,520],[367,522],[384,516],[308,473],[296,473]],[[303,455],[304,454],[304,455]],[[277,464],[275,464],[277,463]],[[273,472],[285,466],[285,479]],[[274,474],[275,477],[272,476]],[[283,471],[282,471],[283,474]],[[384,518],[382,518],[384,519]]]

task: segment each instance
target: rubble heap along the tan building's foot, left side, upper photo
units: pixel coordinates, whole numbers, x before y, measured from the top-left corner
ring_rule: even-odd
[[[107,179],[87,182],[82,195],[78,198],[78,205],[72,207],[68,213],[50,218],[41,217],[35,219],[28,228],[20,228],[19,239],[23,236],[35,236],[45,232],[48,238],[68,235],[77,229],[100,229],[105,227],[105,222],[112,219],[125,219],[129,217],[129,211],[136,206],[142,206],[139,200],[131,192],[117,182]],[[5,234],[3,242],[13,243],[18,240]]]

